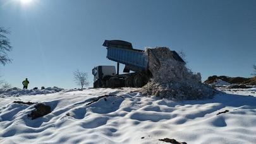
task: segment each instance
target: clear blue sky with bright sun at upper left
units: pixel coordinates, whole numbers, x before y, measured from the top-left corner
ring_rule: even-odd
[[[76,87],[73,71],[106,59],[105,39],[133,47],[184,51],[188,67],[211,75],[251,76],[256,64],[256,1],[0,0],[0,27],[9,28],[13,63],[0,66],[14,87]]]

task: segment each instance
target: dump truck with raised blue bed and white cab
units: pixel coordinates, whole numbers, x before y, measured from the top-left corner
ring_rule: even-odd
[[[152,78],[149,56],[144,51],[133,49],[130,42],[123,40],[105,40],[102,45],[107,48],[107,59],[115,61],[117,69],[115,66],[95,66],[92,69],[94,88],[143,87]],[[172,52],[177,61],[185,63],[175,51]],[[152,59],[154,52],[149,54]],[[160,67],[159,60],[153,59],[154,65]],[[119,74],[120,63],[125,64],[123,74]]]

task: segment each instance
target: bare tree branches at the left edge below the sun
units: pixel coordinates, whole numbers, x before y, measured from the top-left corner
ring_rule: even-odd
[[[11,59],[7,55],[7,52],[11,51],[11,44],[8,37],[6,37],[6,34],[9,33],[8,30],[0,27],[0,63],[3,65],[11,62]]]

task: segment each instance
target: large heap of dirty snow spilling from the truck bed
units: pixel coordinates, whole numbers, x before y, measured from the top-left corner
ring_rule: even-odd
[[[201,82],[200,73],[194,75],[185,63],[176,61],[168,47],[146,49],[152,80],[142,88],[146,95],[174,100],[212,98],[216,90]]]

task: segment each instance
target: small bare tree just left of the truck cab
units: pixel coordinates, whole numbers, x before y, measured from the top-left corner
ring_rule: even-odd
[[[82,89],[83,89],[83,86],[87,86],[89,84],[87,73],[79,71],[78,69],[74,72],[74,80],[77,85],[81,86]]]

